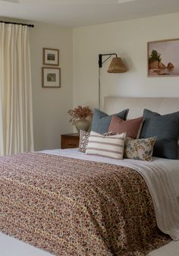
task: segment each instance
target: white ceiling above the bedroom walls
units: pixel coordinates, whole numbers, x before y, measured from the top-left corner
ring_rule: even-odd
[[[179,0],[3,0],[0,16],[80,27],[179,12]]]

